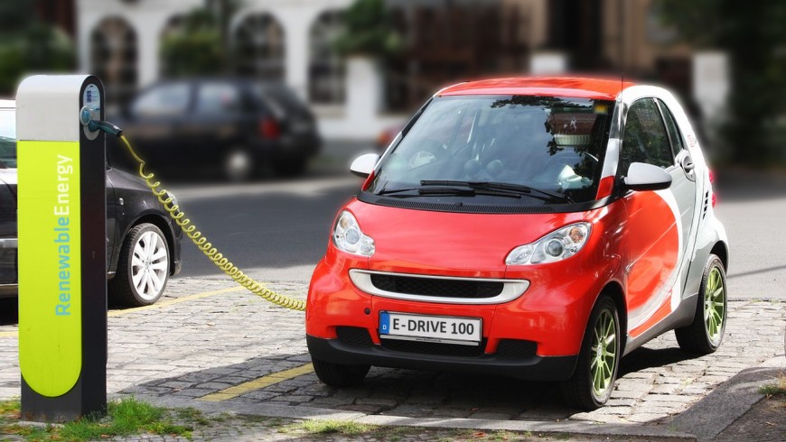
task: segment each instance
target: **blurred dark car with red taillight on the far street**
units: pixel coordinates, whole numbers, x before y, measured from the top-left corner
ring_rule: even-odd
[[[110,119],[154,169],[209,166],[229,180],[248,180],[264,166],[301,173],[322,143],[294,92],[241,79],[157,83]]]

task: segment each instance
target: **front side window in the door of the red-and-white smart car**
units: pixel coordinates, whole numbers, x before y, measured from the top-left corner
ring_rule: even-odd
[[[620,170],[628,173],[632,162],[644,162],[661,168],[674,164],[669,135],[660,118],[660,110],[651,98],[634,102],[625,121],[620,153]]]

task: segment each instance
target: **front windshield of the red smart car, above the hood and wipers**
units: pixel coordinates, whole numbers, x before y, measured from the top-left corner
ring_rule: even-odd
[[[592,201],[613,102],[437,97],[379,165],[367,191],[390,197]]]

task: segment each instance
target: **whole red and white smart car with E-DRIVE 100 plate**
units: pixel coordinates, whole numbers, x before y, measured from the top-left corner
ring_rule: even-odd
[[[446,87],[335,218],[308,290],[320,380],[370,366],[560,382],[585,410],[620,359],[675,330],[714,352],[726,322],[724,226],[678,101],[594,78]]]

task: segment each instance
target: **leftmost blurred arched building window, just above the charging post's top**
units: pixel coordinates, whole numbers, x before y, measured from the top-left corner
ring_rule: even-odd
[[[90,65],[107,91],[107,106],[123,105],[134,96],[137,83],[136,32],[126,20],[101,20],[90,34]]]

